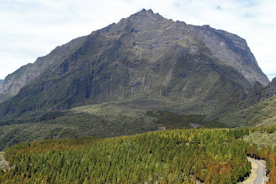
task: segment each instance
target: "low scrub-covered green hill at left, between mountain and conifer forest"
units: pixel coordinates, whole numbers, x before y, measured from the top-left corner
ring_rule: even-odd
[[[126,112],[114,105],[87,105],[52,111],[33,119],[15,119],[0,128],[0,150],[16,143],[79,136],[111,137],[154,131],[154,118],[144,112]]]

